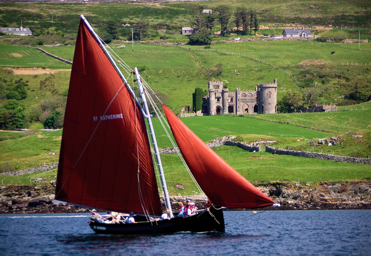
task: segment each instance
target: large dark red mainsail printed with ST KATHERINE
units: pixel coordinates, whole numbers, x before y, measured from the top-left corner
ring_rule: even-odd
[[[118,212],[161,214],[142,112],[83,21],[73,57],[55,198]]]

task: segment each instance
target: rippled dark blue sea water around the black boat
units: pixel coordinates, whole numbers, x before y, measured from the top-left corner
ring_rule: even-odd
[[[0,255],[371,255],[371,210],[224,212],[226,233],[97,235],[86,214],[0,215]]]

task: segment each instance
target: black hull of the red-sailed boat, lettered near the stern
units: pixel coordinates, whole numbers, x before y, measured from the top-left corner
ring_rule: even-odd
[[[138,221],[138,220],[137,220]],[[89,226],[96,233],[101,234],[155,234],[175,232],[224,232],[223,210],[211,206],[194,216],[186,218],[175,217],[171,220],[157,222],[140,222],[134,224],[110,224],[89,222]]]

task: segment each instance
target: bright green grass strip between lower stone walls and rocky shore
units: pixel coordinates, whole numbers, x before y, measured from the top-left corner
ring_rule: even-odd
[[[299,158],[287,155],[272,155],[266,152],[246,152],[233,146],[221,146],[214,151],[236,171],[253,183],[269,181],[343,181],[370,178],[371,166],[326,160]],[[176,155],[162,155],[167,185],[171,194],[194,194],[196,186]],[[36,172],[21,176],[0,175],[3,184],[30,184],[30,178],[56,178],[56,170]],[[46,182],[47,182],[46,181]],[[184,185],[184,191],[175,189],[176,183]],[[37,183],[32,183],[37,185]],[[160,184],[158,184],[160,187]]]

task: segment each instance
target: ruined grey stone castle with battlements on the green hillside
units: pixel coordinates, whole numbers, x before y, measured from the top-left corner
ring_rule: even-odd
[[[223,81],[209,81],[209,95],[203,97],[197,115],[275,114],[277,112],[277,79],[273,83],[258,84],[255,91],[230,92]],[[200,112],[200,113],[199,113]]]

